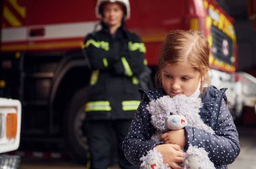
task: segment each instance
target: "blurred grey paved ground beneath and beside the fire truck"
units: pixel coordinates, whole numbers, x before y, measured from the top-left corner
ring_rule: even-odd
[[[228,169],[256,169],[256,127],[238,127],[241,154]],[[86,169],[70,160],[22,158],[19,169]],[[109,169],[118,169],[112,166]]]

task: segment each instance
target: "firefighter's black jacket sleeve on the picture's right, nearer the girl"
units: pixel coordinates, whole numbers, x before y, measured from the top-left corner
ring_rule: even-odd
[[[131,33],[130,33],[131,34]],[[128,44],[120,51],[121,57],[115,62],[114,69],[117,74],[125,76],[139,76],[144,70],[145,45],[136,34],[131,34]]]

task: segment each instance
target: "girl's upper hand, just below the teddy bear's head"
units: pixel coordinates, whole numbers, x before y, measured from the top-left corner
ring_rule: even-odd
[[[185,129],[168,131],[162,134],[161,140],[165,144],[178,144],[181,148],[184,148],[186,145]]]

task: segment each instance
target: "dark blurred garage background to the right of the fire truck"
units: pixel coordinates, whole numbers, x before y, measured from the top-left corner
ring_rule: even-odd
[[[247,71],[253,74],[255,69],[255,19],[251,10],[255,7],[249,5],[254,1],[225,0],[218,3],[229,15],[234,18],[234,27],[238,42],[238,71]],[[254,8],[254,9],[253,9]],[[250,11],[249,11],[250,9]],[[251,19],[250,19],[251,18]],[[255,71],[254,71],[255,72]],[[255,75],[254,75],[255,76]]]

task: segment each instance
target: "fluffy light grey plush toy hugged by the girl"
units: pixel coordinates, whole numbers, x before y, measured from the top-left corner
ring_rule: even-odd
[[[185,95],[177,95],[175,97],[164,96],[156,101],[151,101],[147,109],[150,112],[151,123],[156,128],[155,135],[151,139],[160,140],[162,133],[168,130],[182,129],[186,125],[203,129],[213,134],[214,130],[203,123],[199,115],[201,107],[201,99],[197,97],[186,97]],[[189,145],[186,151],[185,162],[183,168],[187,169],[213,169],[214,164],[207,156],[207,152],[203,148]],[[140,158],[142,161],[141,169],[168,169],[168,165],[164,164],[162,154],[156,149],[150,150],[146,156]]]

